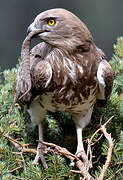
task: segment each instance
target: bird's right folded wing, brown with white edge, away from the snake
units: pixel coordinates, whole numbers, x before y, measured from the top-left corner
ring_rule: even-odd
[[[103,100],[102,105],[105,105],[105,103],[110,97],[114,80],[114,72],[110,64],[106,60],[102,60],[98,66],[97,79],[99,85],[97,99]]]

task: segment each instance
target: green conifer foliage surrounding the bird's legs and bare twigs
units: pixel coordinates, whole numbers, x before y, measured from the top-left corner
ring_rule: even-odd
[[[115,118],[107,125],[108,132],[112,133],[114,142],[114,151],[112,161],[105,179],[123,179],[123,38],[119,37],[117,44],[114,45],[114,54],[110,64],[115,72],[114,87],[109,104],[104,108],[95,106],[92,121],[85,128],[84,146],[86,148],[86,139],[99,127],[100,116],[103,115],[103,124],[112,115]],[[18,66],[17,66],[18,68]],[[5,139],[2,134],[8,134],[21,143],[32,143],[37,146],[38,128],[33,127],[28,113],[21,109],[18,104],[14,103],[16,73],[17,68],[5,70],[1,73],[0,80],[0,179],[35,179],[35,180],[74,180],[79,179],[79,175],[70,173],[70,162],[58,155],[50,153],[46,155],[48,169],[44,170],[42,165],[33,165],[33,154],[24,154],[26,172],[23,168],[23,162],[16,152],[13,145]],[[98,135],[97,135],[98,136]],[[71,152],[76,151],[76,131],[70,114],[61,112],[48,112],[45,119],[45,141],[55,142],[56,144],[66,147]],[[94,139],[96,142],[98,137]],[[96,142],[93,146],[93,169],[91,174],[95,177],[99,175],[99,166],[105,162],[107,155],[108,143],[104,137]],[[74,168],[75,169],[75,168]]]

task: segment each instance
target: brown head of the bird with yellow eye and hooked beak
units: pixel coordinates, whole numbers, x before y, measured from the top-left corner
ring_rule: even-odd
[[[91,38],[87,27],[71,12],[65,9],[51,9],[39,14],[28,27],[28,33],[41,30],[41,41],[55,47],[74,49],[85,39]]]

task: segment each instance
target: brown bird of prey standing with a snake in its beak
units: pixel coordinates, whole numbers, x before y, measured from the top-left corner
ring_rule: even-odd
[[[30,51],[30,41],[36,37],[40,43]],[[113,71],[105,54],[77,16],[57,8],[40,13],[28,27],[21,56],[17,102],[27,105],[31,121],[38,124],[39,140],[43,141],[47,111],[69,112],[79,156],[84,152],[82,130],[90,122],[94,104],[106,103],[112,91]]]

